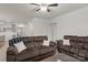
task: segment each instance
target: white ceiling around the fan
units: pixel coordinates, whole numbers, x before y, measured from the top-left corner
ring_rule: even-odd
[[[50,12],[38,12],[38,7],[29,3],[0,3],[0,20],[27,22],[33,18],[53,19],[62,14],[88,7],[88,3],[59,3],[58,7],[49,8]]]

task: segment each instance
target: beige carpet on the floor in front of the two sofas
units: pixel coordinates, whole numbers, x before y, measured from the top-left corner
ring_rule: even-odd
[[[80,62],[67,54],[63,53],[56,53],[53,56],[47,57],[42,59],[41,62]]]

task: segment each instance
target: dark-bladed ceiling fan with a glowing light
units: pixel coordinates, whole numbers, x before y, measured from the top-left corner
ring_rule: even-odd
[[[37,11],[48,11],[48,12],[50,12],[49,7],[58,7],[58,3],[51,3],[51,4],[48,4],[48,3],[40,3],[40,4],[30,3],[30,4],[39,7],[39,9],[37,9]]]

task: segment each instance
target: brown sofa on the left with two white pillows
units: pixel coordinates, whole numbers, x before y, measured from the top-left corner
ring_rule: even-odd
[[[8,62],[33,62],[40,61],[45,57],[53,55],[56,53],[56,43],[50,41],[49,46],[42,45],[43,40],[48,40],[47,36],[23,36],[16,37],[9,41],[9,47],[7,50]],[[27,50],[18,53],[13,44],[23,41]]]

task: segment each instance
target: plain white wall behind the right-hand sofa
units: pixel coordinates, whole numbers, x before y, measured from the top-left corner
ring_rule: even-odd
[[[53,19],[57,23],[56,39],[63,35],[88,35],[88,7]]]

